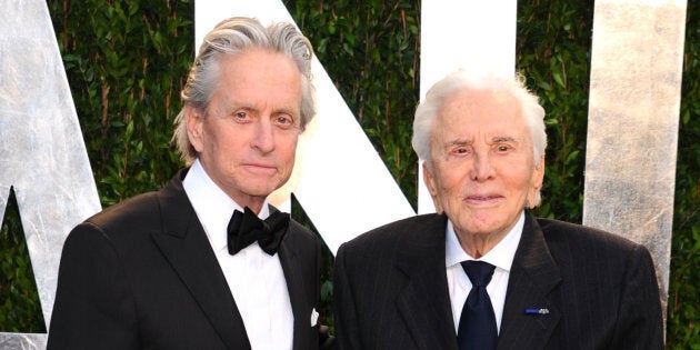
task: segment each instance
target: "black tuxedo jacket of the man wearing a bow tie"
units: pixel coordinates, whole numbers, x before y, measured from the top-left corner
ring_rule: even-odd
[[[162,190],[112,206],[71,231],[48,349],[250,349],[223,272],[182,188],[186,172]],[[294,316],[293,349],[317,349],[311,312],[318,309],[320,244],[311,231],[291,222],[278,253]]]

